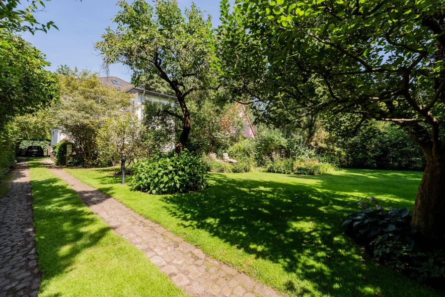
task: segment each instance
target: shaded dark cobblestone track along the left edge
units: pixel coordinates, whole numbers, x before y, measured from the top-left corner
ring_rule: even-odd
[[[0,297],[35,297],[40,273],[28,165],[20,161],[11,174],[8,193],[0,197]]]

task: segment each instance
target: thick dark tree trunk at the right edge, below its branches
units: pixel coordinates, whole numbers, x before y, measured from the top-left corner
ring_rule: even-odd
[[[430,239],[445,242],[445,154],[426,155],[411,226]]]

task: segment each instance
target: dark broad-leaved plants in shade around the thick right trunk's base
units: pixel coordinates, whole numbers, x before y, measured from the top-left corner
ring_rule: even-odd
[[[419,282],[434,284],[443,281],[445,253],[415,245],[416,241],[423,242],[424,239],[411,229],[412,217],[408,207],[384,210],[374,198],[370,197],[370,200],[376,209],[361,200],[359,205],[363,210],[349,213],[348,220],[343,223],[346,234],[364,245],[380,262]]]

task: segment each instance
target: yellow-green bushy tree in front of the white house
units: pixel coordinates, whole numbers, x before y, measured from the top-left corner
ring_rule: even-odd
[[[123,149],[125,139],[122,140],[122,137],[125,133],[113,130],[122,136],[114,137],[114,134],[107,134],[110,132],[107,127],[120,127],[121,121],[134,116],[130,110],[132,95],[101,84],[97,75],[88,71],[68,70],[65,75],[59,75],[59,80],[61,102],[51,110],[55,127],[73,140],[78,148],[77,154],[83,158],[86,167],[97,166],[101,162],[111,163],[108,157]],[[130,128],[130,125],[126,126],[125,131]],[[105,132],[101,133],[101,129],[105,129]],[[98,138],[102,140],[102,151],[99,151]]]

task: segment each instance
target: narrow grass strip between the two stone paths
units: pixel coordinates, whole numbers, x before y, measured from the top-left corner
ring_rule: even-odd
[[[38,160],[28,164],[42,271],[39,297],[187,296],[65,182]]]

